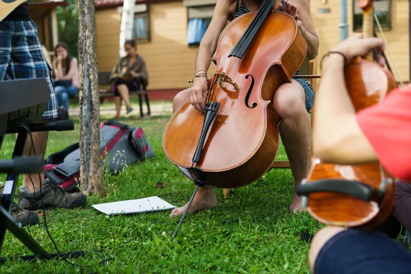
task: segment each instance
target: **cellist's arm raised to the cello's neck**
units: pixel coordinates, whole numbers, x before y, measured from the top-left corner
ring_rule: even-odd
[[[292,8],[290,4],[297,6],[297,27],[307,42],[307,58],[310,60],[316,58],[316,55],[319,54],[320,40],[312,21],[310,0],[291,0],[285,1],[285,3],[286,12],[288,13],[290,13],[290,8]],[[280,10],[283,10],[282,5],[280,5]]]

